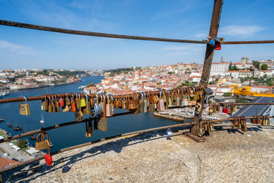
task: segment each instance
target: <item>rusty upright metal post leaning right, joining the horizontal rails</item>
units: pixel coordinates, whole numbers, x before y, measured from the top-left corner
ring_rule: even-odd
[[[216,37],[218,34],[222,8],[223,8],[223,0],[215,0],[213,12],[212,12],[212,19],[211,19],[211,23],[210,23],[210,33],[208,35],[209,39]],[[206,56],[205,56],[205,60],[203,62],[203,73],[201,75],[201,81],[199,83],[202,86],[204,86],[204,88],[208,87],[208,79],[210,77],[210,69],[211,69],[211,65],[212,65],[213,55],[214,55],[214,47],[210,47],[209,44],[206,45]],[[193,121],[195,121],[196,124],[191,127],[190,134],[192,136],[198,135],[199,119],[201,118],[201,113],[203,112],[204,100],[205,100],[205,95],[203,95],[203,97],[201,97],[201,99],[197,100],[197,103],[201,104],[202,110],[198,113],[197,107],[195,107],[195,115],[194,115]],[[195,139],[195,141],[196,140],[197,139]],[[201,139],[198,141],[201,141]]]

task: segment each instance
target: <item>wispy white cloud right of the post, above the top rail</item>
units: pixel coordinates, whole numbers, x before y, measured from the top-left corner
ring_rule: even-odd
[[[220,35],[227,36],[251,36],[257,32],[260,32],[264,27],[258,25],[229,25],[220,29]]]

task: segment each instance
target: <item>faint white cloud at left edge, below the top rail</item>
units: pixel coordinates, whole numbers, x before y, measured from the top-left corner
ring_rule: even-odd
[[[34,55],[36,51],[32,47],[12,44],[5,40],[0,40],[1,53],[16,54],[16,55]]]

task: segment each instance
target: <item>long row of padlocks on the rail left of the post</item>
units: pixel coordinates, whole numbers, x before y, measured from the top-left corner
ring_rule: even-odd
[[[77,121],[82,121],[83,114],[91,114],[93,117],[112,117],[114,108],[138,112],[155,112],[165,110],[169,106],[187,106],[186,102],[200,99],[204,95],[201,86],[176,88],[173,90],[156,90],[129,95],[90,94],[86,93],[62,93],[43,95],[41,109],[46,112],[74,112]],[[24,96],[23,96],[24,97]],[[29,115],[29,103],[19,104],[19,112]]]

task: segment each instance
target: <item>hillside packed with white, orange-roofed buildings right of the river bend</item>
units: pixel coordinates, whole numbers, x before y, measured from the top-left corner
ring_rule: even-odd
[[[232,91],[234,85],[251,86],[251,91],[263,93],[273,88],[273,63],[274,60],[250,61],[247,57],[242,57],[241,62],[232,63],[223,60],[222,57],[221,62],[212,63],[209,87],[214,91],[214,95],[220,96]],[[84,88],[84,91],[86,93],[127,94],[132,91],[195,86],[201,79],[202,69],[201,64],[177,63],[137,69],[119,69],[119,72],[112,70],[112,72],[105,72],[105,79],[101,83]]]

